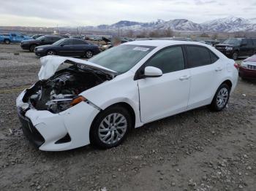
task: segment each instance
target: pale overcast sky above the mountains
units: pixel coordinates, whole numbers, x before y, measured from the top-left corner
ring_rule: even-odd
[[[256,17],[256,0],[0,0],[0,26],[97,26],[119,20]]]

